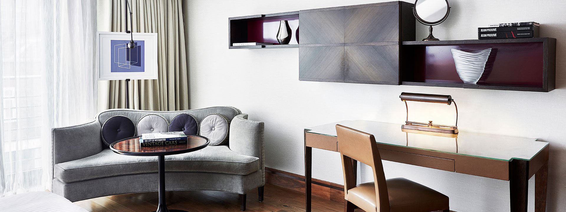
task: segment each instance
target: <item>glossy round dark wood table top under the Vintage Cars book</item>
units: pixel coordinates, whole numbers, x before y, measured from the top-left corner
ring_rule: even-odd
[[[194,152],[208,146],[208,139],[198,135],[187,135],[186,144],[141,146],[140,136],[113,142],[110,149],[118,154],[135,156],[161,156]]]

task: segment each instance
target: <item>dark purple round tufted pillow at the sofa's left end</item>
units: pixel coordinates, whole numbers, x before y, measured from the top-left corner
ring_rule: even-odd
[[[136,135],[134,122],[126,116],[112,116],[102,124],[102,141],[110,146],[114,141],[127,139]]]

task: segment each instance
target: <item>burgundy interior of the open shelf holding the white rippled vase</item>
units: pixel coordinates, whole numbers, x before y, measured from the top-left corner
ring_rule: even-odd
[[[492,48],[478,85],[543,86],[543,42],[461,45],[404,45],[403,81],[460,84],[450,49]],[[412,64],[411,64],[412,63]]]

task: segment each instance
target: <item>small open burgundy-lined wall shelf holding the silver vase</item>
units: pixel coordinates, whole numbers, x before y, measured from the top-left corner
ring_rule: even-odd
[[[287,20],[291,27],[291,42],[288,45],[279,45],[277,42],[277,31],[279,21]],[[281,12],[276,14],[250,15],[229,18],[229,49],[278,49],[297,48],[299,11]],[[260,46],[232,46],[234,43],[243,42],[267,42],[273,45]]]

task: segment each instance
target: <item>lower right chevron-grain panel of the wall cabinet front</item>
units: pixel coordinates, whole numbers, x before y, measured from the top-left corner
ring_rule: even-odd
[[[399,84],[399,46],[346,46],[345,82]]]

